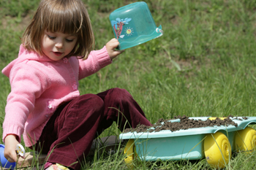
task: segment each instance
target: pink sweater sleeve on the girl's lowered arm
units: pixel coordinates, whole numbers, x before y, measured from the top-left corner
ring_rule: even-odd
[[[34,102],[47,86],[44,74],[36,68],[20,63],[10,72],[11,92],[7,97],[3,123],[3,140],[8,134],[20,137],[29,113],[34,109]]]

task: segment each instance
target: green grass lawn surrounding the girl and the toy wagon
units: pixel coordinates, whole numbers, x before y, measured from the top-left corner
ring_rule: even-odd
[[[100,49],[113,38],[110,12],[135,1],[84,1]],[[0,1],[0,69],[18,55],[19,37],[39,0]],[[125,88],[151,123],[187,116],[255,116],[256,1],[146,0],[164,35],[127,49],[113,64],[80,81],[80,93]],[[1,123],[10,92],[0,76]],[[116,125],[102,136],[118,135]],[[1,132],[0,132],[1,134]],[[126,169],[123,158],[89,158],[84,169]],[[136,162],[135,169],[208,169],[206,160]],[[255,153],[238,153],[226,169],[255,169]]]

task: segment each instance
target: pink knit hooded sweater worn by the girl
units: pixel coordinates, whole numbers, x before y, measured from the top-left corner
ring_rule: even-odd
[[[80,95],[78,80],[110,63],[105,47],[91,51],[86,60],[71,57],[52,61],[20,45],[18,58],[2,70],[12,88],[5,108],[3,140],[7,134],[15,134],[20,142],[23,134],[26,147],[35,144],[59,104]]]

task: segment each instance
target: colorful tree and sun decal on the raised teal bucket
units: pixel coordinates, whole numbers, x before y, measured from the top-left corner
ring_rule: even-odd
[[[113,26],[113,29],[115,31],[116,39],[124,38],[124,34],[126,34],[127,36],[132,35],[132,28],[127,28],[126,30],[124,30],[125,33],[122,34],[124,25],[129,24],[129,21],[131,20],[132,18],[125,18],[125,19],[116,18],[116,20],[111,20],[111,25]]]

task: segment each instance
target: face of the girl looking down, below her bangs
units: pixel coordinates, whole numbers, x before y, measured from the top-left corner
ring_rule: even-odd
[[[59,61],[73,50],[77,40],[76,35],[45,30],[42,35],[42,52],[53,61]]]

